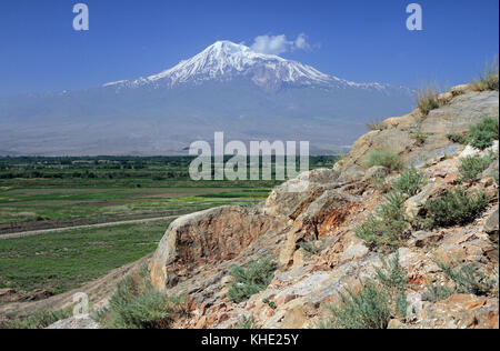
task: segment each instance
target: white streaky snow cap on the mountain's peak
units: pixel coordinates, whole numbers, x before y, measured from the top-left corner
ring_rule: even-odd
[[[254,84],[264,89],[279,88],[282,84],[377,90],[387,88],[380,83],[356,83],[328,76],[310,66],[274,54],[254,52],[249,47],[231,41],[218,41],[191,59],[181,61],[158,74],[110,82],[103,87],[138,88],[152,84],[157,88],[173,88],[182,83],[228,81],[239,77],[251,79]]]

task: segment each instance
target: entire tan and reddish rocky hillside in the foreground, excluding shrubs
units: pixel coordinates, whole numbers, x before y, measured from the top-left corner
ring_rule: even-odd
[[[302,173],[277,187],[256,209],[223,207],[173,222],[154,253],[151,279],[164,293],[184,293],[192,301],[191,317],[177,327],[234,328],[247,317],[260,328],[309,328],[331,317],[328,305],[338,303],[344,289],[356,290],[360,281],[372,278],[374,267],[382,264],[354,231],[384,201],[372,178],[381,173],[390,182],[398,176],[383,168],[366,172],[367,152],[396,150],[407,164],[420,167],[428,184],[403,209],[416,220],[428,199],[457,185],[466,147],[450,142],[447,134],[466,131],[486,114],[498,117],[498,97],[471,92],[467,86],[453,88],[440,97],[446,106],[427,118],[414,111],[387,120],[383,130],[362,137],[334,170]],[[429,136],[423,144],[411,138],[416,127]],[[390,328],[498,328],[498,289],[439,302],[424,299],[428,283],[452,284],[436,260],[472,264],[487,278],[498,272],[498,184],[491,176],[486,172],[462,184],[467,191],[490,194],[486,211],[472,223],[412,227],[398,250],[408,271],[410,309],[404,320],[394,315]],[[303,191],[291,191],[304,181]],[[264,255],[278,263],[272,282],[248,301],[233,303],[227,295],[233,282],[230,267]]]

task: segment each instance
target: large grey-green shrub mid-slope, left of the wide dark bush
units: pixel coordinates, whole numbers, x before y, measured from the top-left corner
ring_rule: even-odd
[[[399,248],[407,237],[408,221],[403,212],[406,198],[401,193],[392,192],[386,200],[374,215],[370,215],[354,230],[354,234],[362,239],[370,250],[379,252]]]

